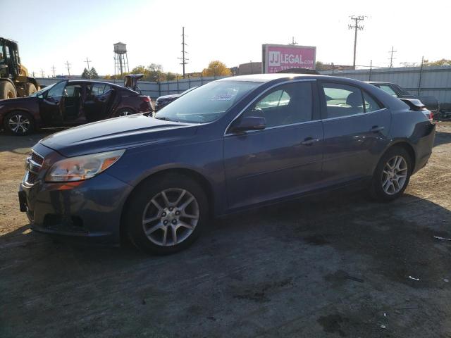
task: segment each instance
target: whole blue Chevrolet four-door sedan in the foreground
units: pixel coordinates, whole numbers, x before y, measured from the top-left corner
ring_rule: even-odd
[[[126,236],[143,251],[172,253],[212,216],[250,206],[350,184],[396,199],[426,165],[434,135],[424,113],[357,80],[230,77],[154,118],[42,139],[26,161],[20,210],[37,232],[112,244]]]

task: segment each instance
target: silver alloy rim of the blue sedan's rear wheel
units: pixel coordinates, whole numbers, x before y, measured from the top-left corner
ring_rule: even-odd
[[[407,180],[407,162],[402,156],[390,158],[382,170],[381,184],[385,194],[394,195],[402,190]]]

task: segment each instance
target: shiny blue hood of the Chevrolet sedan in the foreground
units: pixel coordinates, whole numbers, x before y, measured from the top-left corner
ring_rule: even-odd
[[[63,156],[72,157],[188,139],[194,136],[196,130],[196,124],[163,121],[136,114],[70,128],[39,142]]]

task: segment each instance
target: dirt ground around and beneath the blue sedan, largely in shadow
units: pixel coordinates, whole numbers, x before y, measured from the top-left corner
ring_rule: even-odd
[[[0,337],[451,337],[451,123],[391,204],[330,194],[216,220],[144,256],[30,232],[0,134]]]

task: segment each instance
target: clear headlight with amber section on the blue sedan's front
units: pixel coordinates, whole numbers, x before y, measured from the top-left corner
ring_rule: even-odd
[[[66,158],[51,166],[45,180],[47,182],[87,180],[111,167],[121,158],[124,151],[125,149]]]

